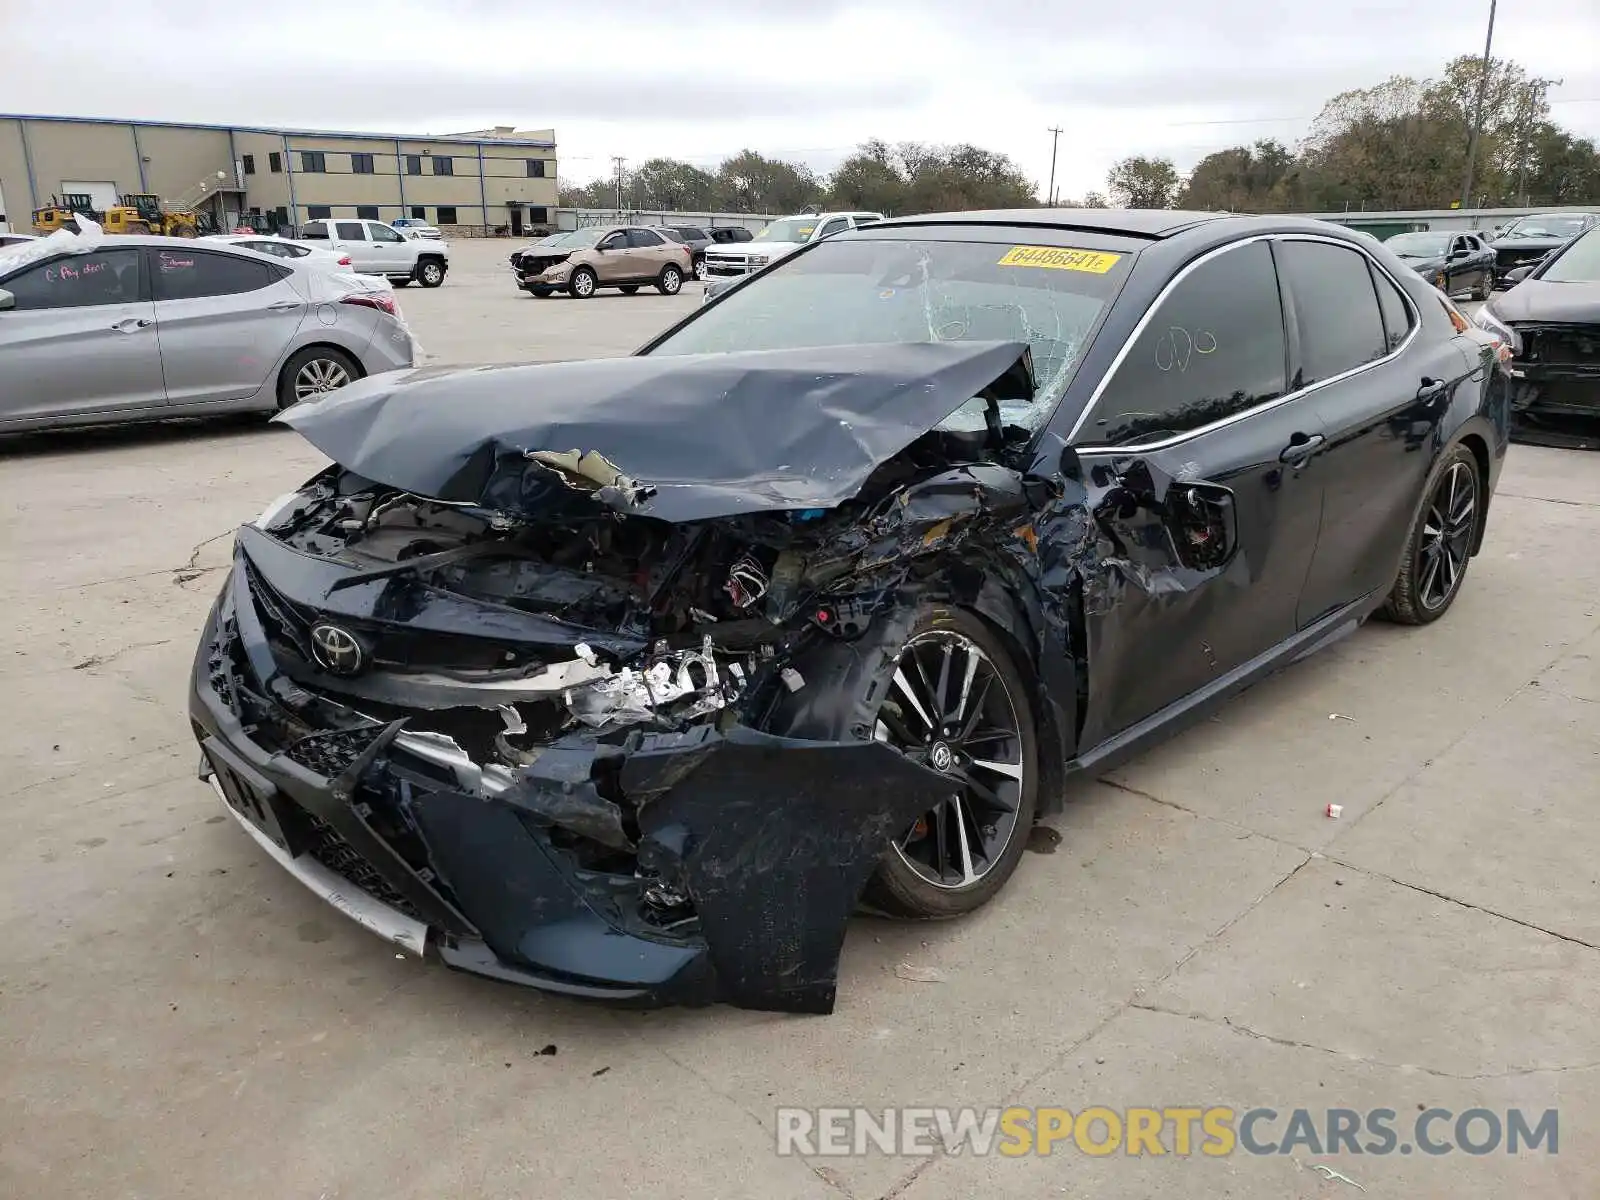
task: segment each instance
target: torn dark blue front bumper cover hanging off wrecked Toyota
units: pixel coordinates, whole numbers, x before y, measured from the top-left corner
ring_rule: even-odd
[[[235,563],[195,658],[190,717],[202,774],[253,837],[381,936],[568,995],[830,1011],[862,886],[947,790],[878,742],[733,725],[619,744],[574,734],[485,797],[410,750],[405,722],[270,744],[240,715],[245,693],[254,712],[274,702],[272,675]],[[637,813],[637,875],[584,869],[552,838],[552,814],[571,827],[574,811],[618,806],[600,778]],[[688,899],[686,930],[650,923],[650,882]]]

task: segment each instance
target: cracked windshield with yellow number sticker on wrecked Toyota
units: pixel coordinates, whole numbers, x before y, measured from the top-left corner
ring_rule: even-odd
[[[1003,416],[1038,429],[1131,262],[1064,246],[829,238],[702,309],[650,354],[1019,341],[1032,347],[1038,392]],[[981,429],[982,419],[974,400],[941,427]]]

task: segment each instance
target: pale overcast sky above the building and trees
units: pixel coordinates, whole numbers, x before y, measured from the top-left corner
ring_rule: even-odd
[[[93,8],[93,6],[91,6]],[[0,109],[453,133],[555,126],[563,179],[742,147],[829,171],[866,138],[970,141],[1062,195],[1130,154],[1286,142],[1331,94],[1483,51],[1488,0],[0,0]],[[123,11],[123,10],[117,10]],[[75,16],[77,13],[77,16]],[[90,35],[85,35],[88,26]],[[1494,51],[1600,139],[1600,0],[1501,0]]]

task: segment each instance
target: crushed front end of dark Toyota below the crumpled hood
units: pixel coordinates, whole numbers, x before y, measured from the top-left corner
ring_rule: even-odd
[[[413,952],[584,997],[830,1011],[867,877],[947,784],[773,730],[834,702],[808,650],[859,635],[947,512],[896,493],[539,525],[330,469],[238,533],[194,666],[202,774]]]

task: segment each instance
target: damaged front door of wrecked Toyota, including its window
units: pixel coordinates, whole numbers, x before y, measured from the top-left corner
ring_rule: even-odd
[[[1168,286],[1074,429],[1102,550],[1080,749],[1293,637],[1323,430],[1286,360],[1267,243],[1224,246]]]

